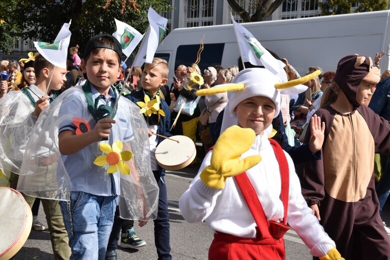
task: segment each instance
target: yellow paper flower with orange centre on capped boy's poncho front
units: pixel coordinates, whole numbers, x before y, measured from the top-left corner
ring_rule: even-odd
[[[130,174],[129,166],[123,161],[129,161],[133,157],[133,153],[130,151],[122,151],[123,144],[120,140],[113,143],[112,148],[109,144],[101,143],[99,149],[107,155],[98,156],[95,161],[93,161],[93,164],[97,166],[109,164],[110,166],[107,169],[107,174],[116,173],[118,170],[122,174]]]

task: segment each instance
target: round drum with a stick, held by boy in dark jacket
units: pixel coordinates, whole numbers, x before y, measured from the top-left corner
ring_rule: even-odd
[[[184,135],[175,135],[169,138],[157,146],[156,160],[166,170],[183,169],[195,159],[196,147],[194,141]]]

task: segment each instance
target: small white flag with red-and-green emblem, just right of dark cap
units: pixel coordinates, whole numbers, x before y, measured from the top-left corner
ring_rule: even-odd
[[[112,36],[120,42],[123,54],[128,57],[141,41],[143,35],[127,23],[117,19],[115,19],[115,23],[116,31],[112,33]]]

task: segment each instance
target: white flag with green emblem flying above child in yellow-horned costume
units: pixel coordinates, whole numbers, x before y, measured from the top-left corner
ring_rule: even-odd
[[[283,69],[286,64],[281,60],[274,58],[250,31],[234,20],[233,16],[232,21],[242,61],[250,62],[257,66],[263,65],[266,69],[275,75],[280,76],[282,80],[286,82],[287,75],[286,71]]]

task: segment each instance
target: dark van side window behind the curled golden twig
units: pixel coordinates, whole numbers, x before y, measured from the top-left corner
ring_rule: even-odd
[[[189,66],[196,61],[199,44],[180,45],[176,50],[175,68],[180,64]],[[222,54],[225,43],[210,43],[204,44],[202,53],[200,54],[200,62],[198,66],[203,74],[203,70],[208,66],[221,65]]]

